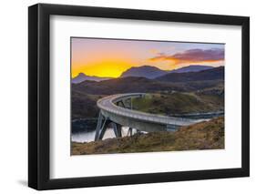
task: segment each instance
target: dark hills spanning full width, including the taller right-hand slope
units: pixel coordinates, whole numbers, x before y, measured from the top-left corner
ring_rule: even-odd
[[[224,67],[214,67],[200,72],[169,73],[155,79],[146,77],[118,77],[108,80],[84,81],[73,84],[72,90],[93,95],[112,95],[118,93],[153,92],[160,90],[190,91],[213,87],[224,80]]]

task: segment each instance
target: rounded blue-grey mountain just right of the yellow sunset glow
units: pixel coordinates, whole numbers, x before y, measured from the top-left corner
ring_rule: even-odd
[[[156,66],[137,66],[131,67],[127,71],[123,72],[121,77],[146,77],[148,79],[153,79],[156,77],[161,77],[168,72],[159,69]]]

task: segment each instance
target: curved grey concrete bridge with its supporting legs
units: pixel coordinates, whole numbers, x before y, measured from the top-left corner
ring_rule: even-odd
[[[132,128],[147,132],[166,131],[201,121],[182,117],[160,116],[133,110],[132,98],[144,97],[145,95],[145,93],[117,94],[97,100],[97,107],[99,107],[100,111],[95,140],[103,138],[109,125],[114,129],[116,137],[121,137],[122,126],[128,127],[130,135],[132,135]]]

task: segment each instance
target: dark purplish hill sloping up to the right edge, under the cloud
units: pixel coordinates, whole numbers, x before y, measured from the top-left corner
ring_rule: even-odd
[[[206,80],[224,80],[224,66],[214,67],[199,72],[187,73],[169,73],[162,77],[157,77],[156,80],[164,82],[191,82],[191,81],[206,81]]]

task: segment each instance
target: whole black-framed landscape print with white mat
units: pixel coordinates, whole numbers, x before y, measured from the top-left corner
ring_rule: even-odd
[[[28,8],[28,185],[250,174],[250,19]]]

